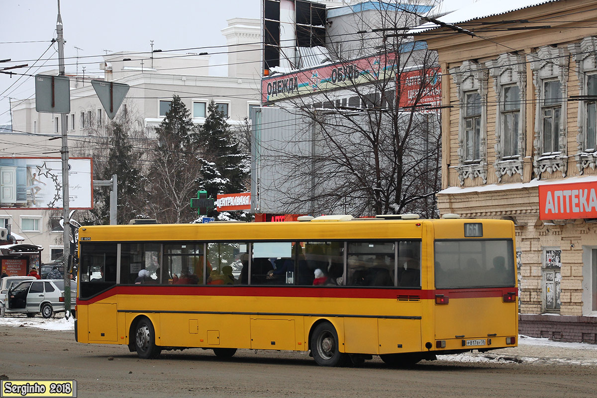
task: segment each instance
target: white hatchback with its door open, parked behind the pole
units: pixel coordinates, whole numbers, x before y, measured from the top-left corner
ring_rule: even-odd
[[[74,286],[73,286],[74,287]],[[33,317],[41,313],[44,318],[64,311],[64,280],[25,280],[8,290],[5,313],[26,313]],[[74,313],[76,289],[70,290],[70,308]]]

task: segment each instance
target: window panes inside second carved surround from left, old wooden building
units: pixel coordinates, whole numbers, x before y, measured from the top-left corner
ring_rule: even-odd
[[[501,104],[501,125],[503,128],[502,158],[518,158],[518,131],[521,115],[521,89],[518,85],[503,88],[504,101]]]

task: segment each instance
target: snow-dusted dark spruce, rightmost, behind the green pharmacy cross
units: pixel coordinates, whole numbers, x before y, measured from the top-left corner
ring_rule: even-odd
[[[214,101],[208,105],[208,116],[199,128],[197,140],[205,154],[200,159],[200,189],[207,191],[207,197],[215,199],[218,194],[246,192],[250,175],[248,155],[239,148],[238,139]],[[242,220],[247,216],[244,212],[219,214],[215,209],[208,209],[207,215],[219,220]]]

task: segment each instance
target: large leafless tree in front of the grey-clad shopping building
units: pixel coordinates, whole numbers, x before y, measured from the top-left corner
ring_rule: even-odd
[[[436,216],[441,129],[429,103],[439,98],[436,54],[405,36],[418,23],[414,14],[380,7],[359,21],[369,24],[362,42],[329,46],[333,84],[315,76],[312,95],[281,105],[302,121],[291,141],[261,142],[261,164],[275,164],[281,176],[267,189],[288,212]],[[352,58],[364,51],[370,56]]]

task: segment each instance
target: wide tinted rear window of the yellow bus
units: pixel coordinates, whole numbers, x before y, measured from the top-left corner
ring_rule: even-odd
[[[435,241],[436,289],[514,285],[512,240]]]

